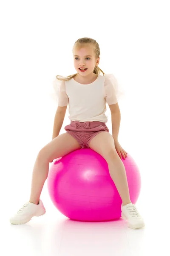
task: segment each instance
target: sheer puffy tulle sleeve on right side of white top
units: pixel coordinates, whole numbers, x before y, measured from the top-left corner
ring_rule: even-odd
[[[116,104],[118,100],[125,94],[113,74],[105,75],[104,89],[105,99],[108,105]]]

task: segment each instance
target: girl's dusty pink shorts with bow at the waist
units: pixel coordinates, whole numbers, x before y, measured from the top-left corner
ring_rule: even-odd
[[[99,121],[71,121],[70,125],[65,126],[65,131],[71,134],[79,143],[81,148],[89,148],[91,139],[102,131],[109,132],[105,122]]]

